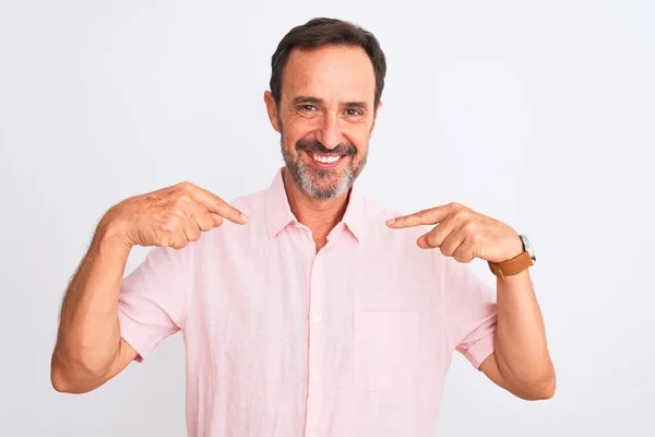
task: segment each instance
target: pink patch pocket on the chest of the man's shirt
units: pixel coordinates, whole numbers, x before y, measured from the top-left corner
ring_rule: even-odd
[[[355,312],[355,387],[371,391],[409,387],[417,367],[417,343],[418,315],[415,312]]]

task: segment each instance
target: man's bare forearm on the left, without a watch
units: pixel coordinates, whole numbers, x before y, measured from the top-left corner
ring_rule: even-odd
[[[118,295],[130,248],[103,222],[66,293],[52,354],[56,386],[86,386],[120,352]]]

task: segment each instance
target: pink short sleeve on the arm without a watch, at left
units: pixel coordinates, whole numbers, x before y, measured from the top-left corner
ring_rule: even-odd
[[[181,329],[189,284],[184,251],[154,248],[122,281],[118,302],[120,333],[139,354],[138,362]]]

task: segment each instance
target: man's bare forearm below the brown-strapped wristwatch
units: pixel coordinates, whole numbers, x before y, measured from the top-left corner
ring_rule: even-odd
[[[555,370],[544,321],[527,271],[498,279],[498,324],[495,338],[498,369],[524,397],[549,397]]]

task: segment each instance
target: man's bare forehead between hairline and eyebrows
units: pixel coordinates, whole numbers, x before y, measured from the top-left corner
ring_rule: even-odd
[[[283,72],[283,99],[308,95],[325,99],[372,102],[373,64],[361,47],[294,49]]]

